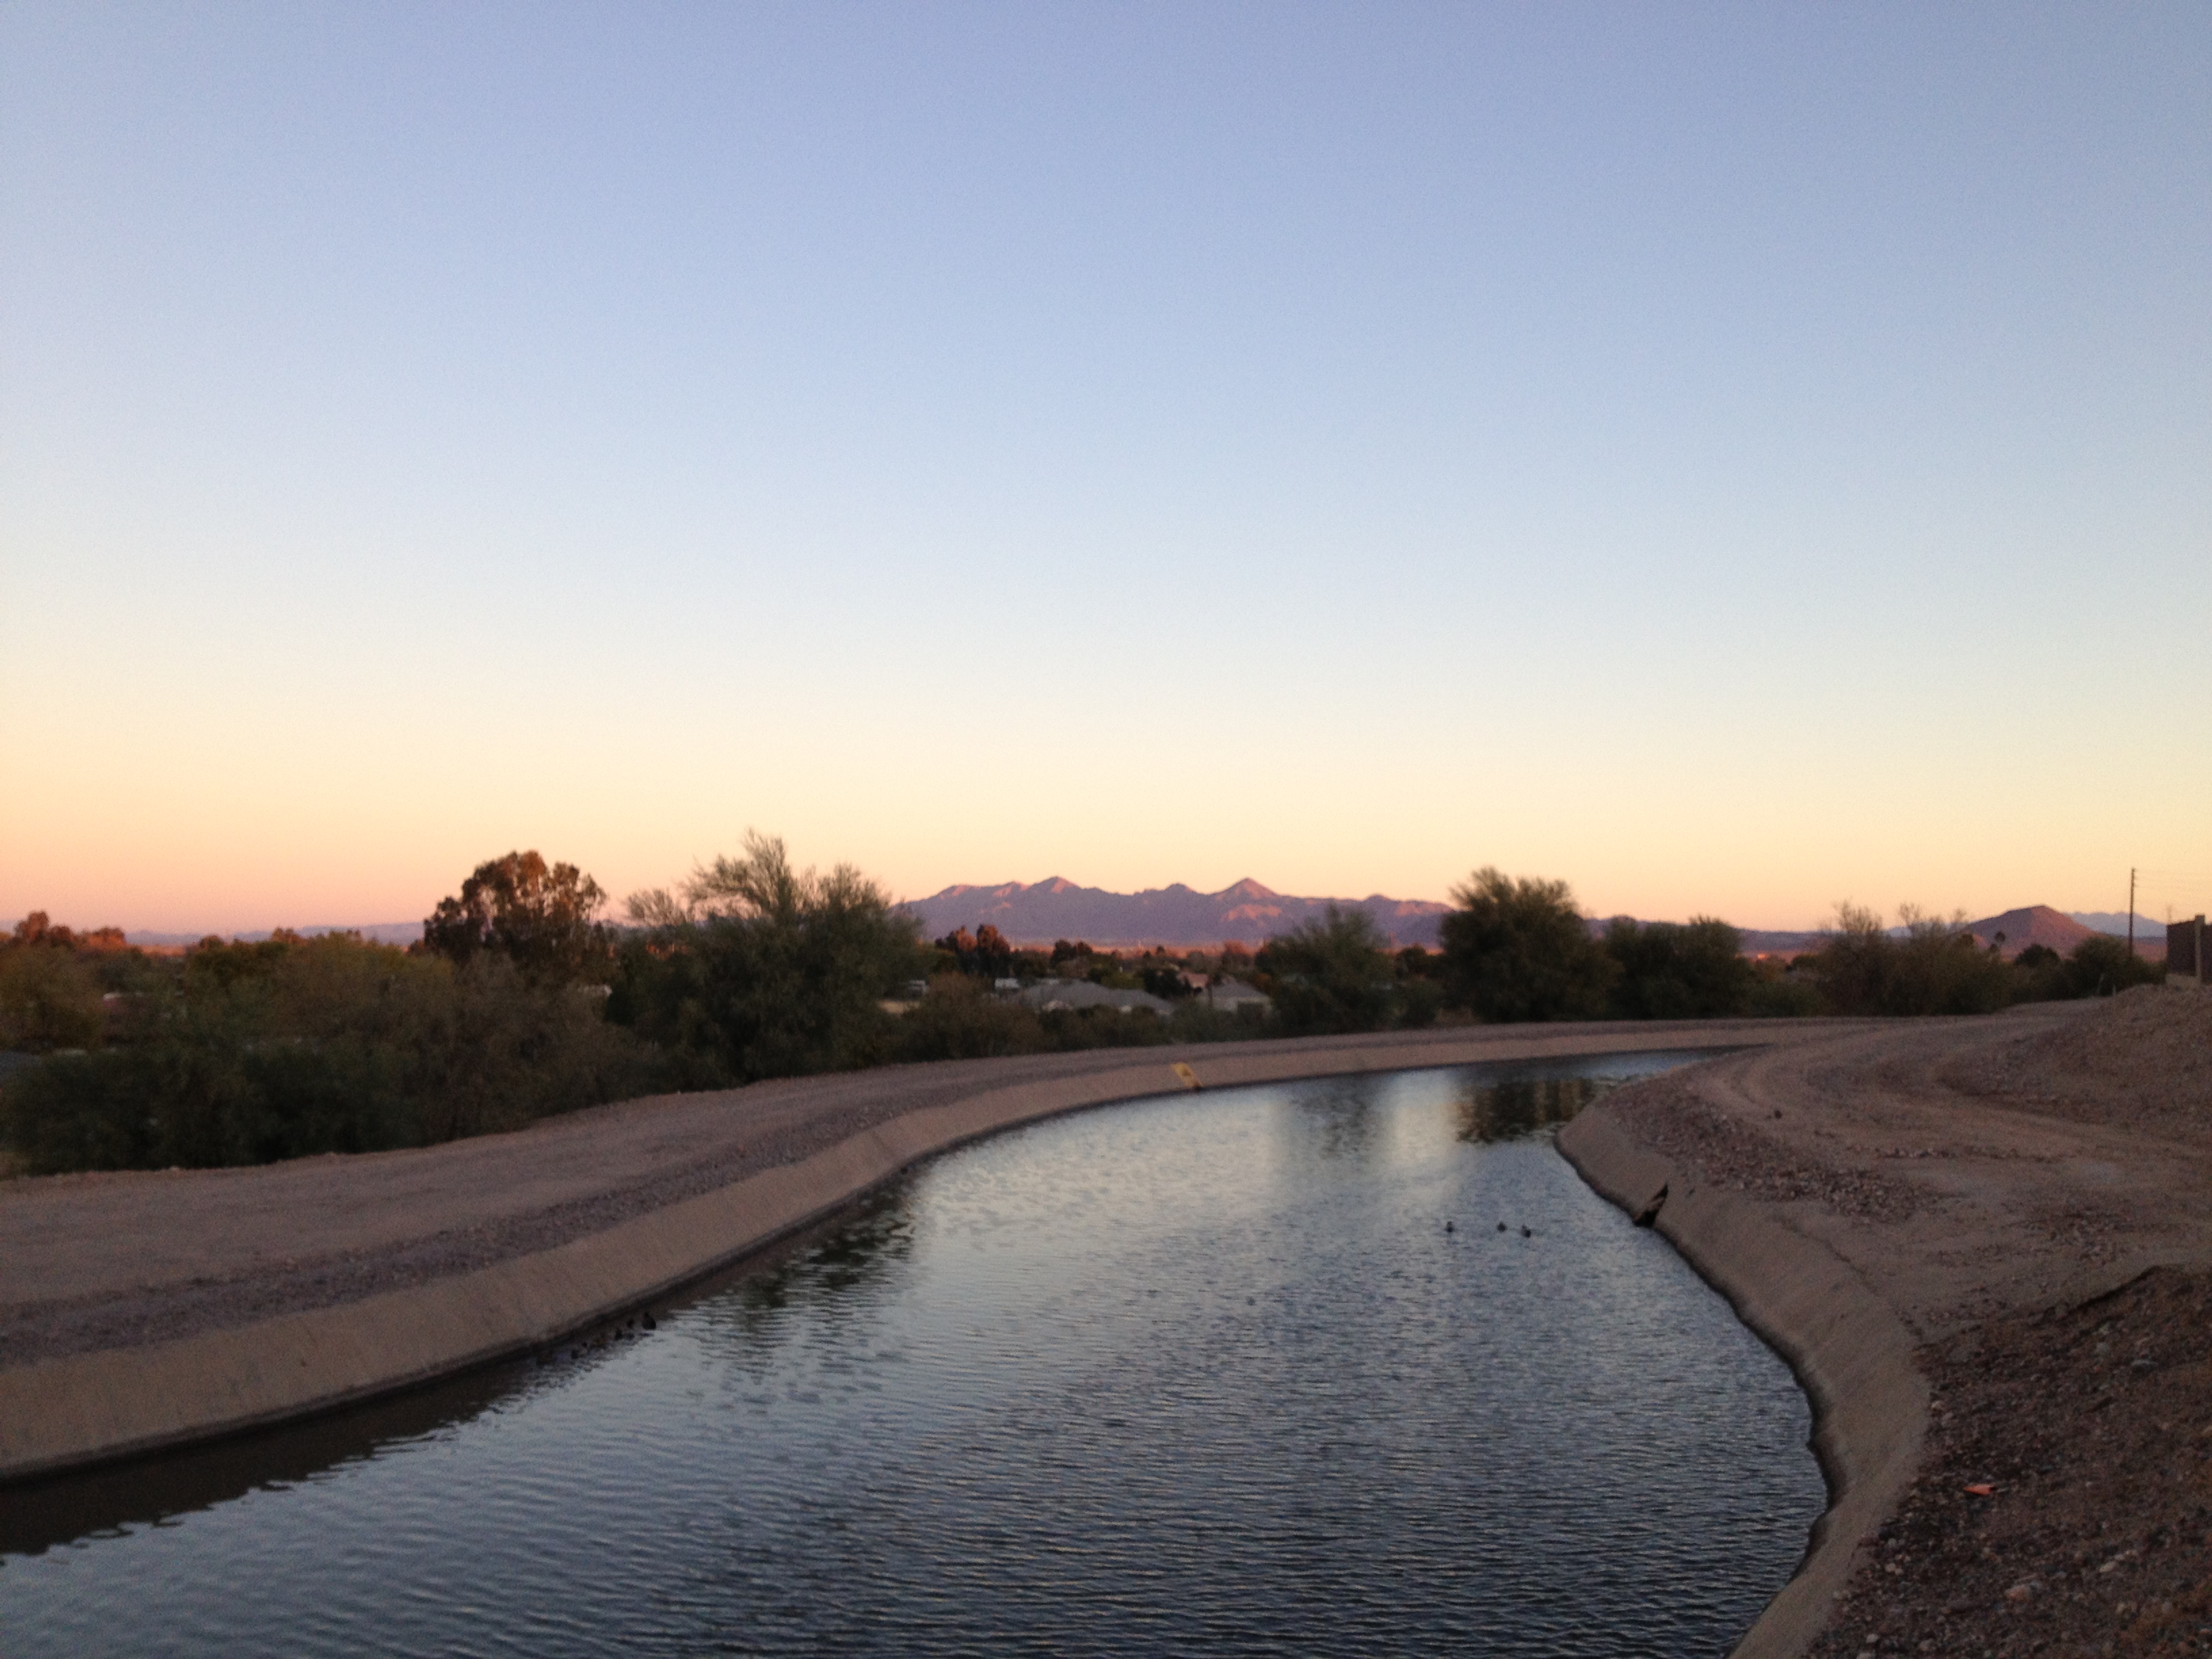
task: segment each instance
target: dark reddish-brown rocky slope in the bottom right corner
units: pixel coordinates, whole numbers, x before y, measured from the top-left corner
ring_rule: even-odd
[[[2212,1274],[2152,1267],[1922,1365],[1920,1475],[1814,1655],[2212,1652]]]

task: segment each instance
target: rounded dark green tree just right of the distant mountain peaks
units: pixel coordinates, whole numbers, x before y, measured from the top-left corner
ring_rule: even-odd
[[[1482,1020],[1588,1020],[1619,967],[1590,938],[1564,880],[1478,869],[1440,922],[1444,982]]]

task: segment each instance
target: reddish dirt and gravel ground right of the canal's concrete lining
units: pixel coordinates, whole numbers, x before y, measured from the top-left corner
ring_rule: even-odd
[[[1809,1652],[2212,1652],[2212,1000],[1843,1035],[1595,1113],[1920,1343],[1918,1475]]]

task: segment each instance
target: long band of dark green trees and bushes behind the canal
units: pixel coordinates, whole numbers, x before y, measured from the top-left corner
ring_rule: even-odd
[[[204,940],[181,956],[46,916],[0,940],[0,1141],[18,1170],[257,1164],[425,1146],[666,1091],[887,1062],[975,1060],[1438,1020],[1703,1020],[1989,1013],[2159,978],[2126,945],[2004,960],[1958,920],[1900,929],[1840,905],[1792,964],[1741,953],[1728,922],[1615,920],[1593,933],[1566,883],[1478,869],[1442,949],[1389,949],[1365,911],[1259,953],[1018,949],[998,929],[933,945],[858,869],[794,869],[781,841],[628,900],[628,927],[575,865],[513,852],[440,900],[414,949],[352,933]],[[1146,993],[1166,1013],[1029,1006],[1006,980]],[[1237,980],[1265,1006],[1212,1006]],[[1057,1000],[1057,998],[1055,998]],[[1124,1002],[1137,998],[1121,998]],[[4,1168],[4,1166],[0,1166]]]

